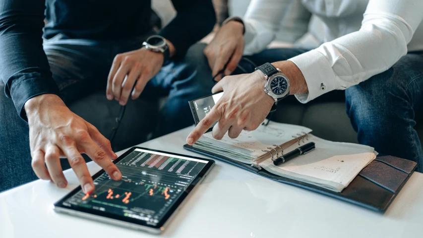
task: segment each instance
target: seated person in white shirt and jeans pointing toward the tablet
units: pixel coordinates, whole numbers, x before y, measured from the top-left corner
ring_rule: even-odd
[[[286,4],[275,0],[250,4],[244,19],[230,18],[204,49],[212,75],[221,69],[225,75],[233,72],[244,45],[263,51],[287,10]],[[416,161],[422,172],[422,147],[413,127],[423,119],[423,1],[340,0],[327,5],[313,0],[302,4],[320,20],[324,34],[313,35],[321,36],[318,40],[323,44],[310,51],[266,50],[274,52],[265,59],[272,65],[224,77],[212,89],[223,90],[223,97],[188,135],[187,143],[195,143],[215,121],[216,139],[227,132],[236,138],[242,130],[256,129],[284,94],[307,103],[329,91],[347,89],[347,114],[359,142],[379,153]],[[275,54],[281,61],[274,60]],[[265,74],[270,76],[276,68],[287,80],[279,77],[267,82],[272,96],[264,90]]]

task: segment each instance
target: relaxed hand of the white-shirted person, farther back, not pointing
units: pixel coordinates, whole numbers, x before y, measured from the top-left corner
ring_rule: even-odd
[[[213,76],[224,69],[227,63],[225,75],[230,75],[236,69],[244,50],[243,30],[241,22],[230,21],[219,29],[214,39],[204,48]],[[218,75],[215,80],[221,78],[222,75]]]

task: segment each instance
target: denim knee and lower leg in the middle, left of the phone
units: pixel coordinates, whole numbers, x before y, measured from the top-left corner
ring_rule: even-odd
[[[169,92],[153,137],[192,125],[194,119],[188,101],[211,94],[214,83],[203,54],[205,46],[201,43],[193,45],[182,60],[163,67],[147,84],[146,94],[148,91],[157,92],[160,87],[166,89],[162,91],[162,95]]]

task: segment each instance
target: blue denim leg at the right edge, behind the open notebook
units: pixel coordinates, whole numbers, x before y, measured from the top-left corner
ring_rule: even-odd
[[[423,153],[416,121],[423,118],[423,54],[408,54],[390,69],[346,90],[347,115],[359,143],[418,163]]]

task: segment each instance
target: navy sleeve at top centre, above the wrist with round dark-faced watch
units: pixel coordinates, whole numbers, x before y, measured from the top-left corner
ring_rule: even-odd
[[[177,14],[159,35],[172,42],[181,56],[213,30],[216,13],[211,0],[172,0],[172,3]]]

